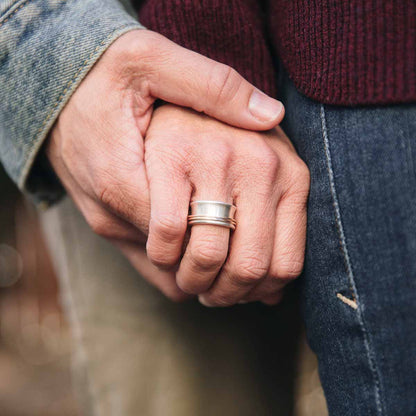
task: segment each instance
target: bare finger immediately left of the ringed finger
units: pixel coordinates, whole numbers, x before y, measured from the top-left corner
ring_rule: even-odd
[[[182,254],[191,184],[157,149],[146,151],[146,166],[150,187],[147,256],[154,265],[169,269]]]

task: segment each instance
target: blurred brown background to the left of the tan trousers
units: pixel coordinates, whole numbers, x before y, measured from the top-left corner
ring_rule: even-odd
[[[0,415],[80,416],[70,350],[36,212],[0,165]]]

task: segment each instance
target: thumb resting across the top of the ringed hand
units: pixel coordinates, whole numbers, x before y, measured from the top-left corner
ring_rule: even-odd
[[[171,42],[151,37],[150,94],[182,107],[250,130],[268,130],[280,123],[284,107],[246,81],[231,67]],[[149,50],[149,49],[148,49]],[[148,60],[150,62],[150,60]]]

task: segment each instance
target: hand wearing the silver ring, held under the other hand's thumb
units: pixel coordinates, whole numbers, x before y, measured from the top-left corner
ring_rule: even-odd
[[[303,267],[309,192],[309,171],[283,131],[242,130],[164,105],[146,134],[145,166],[150,260],[177,269],[178,287],[206,305],[277,303]],[[231,238],[227,228],[194,225],[183,254],[191,200],[234,203]]]

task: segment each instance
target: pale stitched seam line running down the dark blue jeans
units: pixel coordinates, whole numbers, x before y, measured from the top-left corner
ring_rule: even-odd
[[[341,211],[339,209],[338,197],[337,197],[337,192],[336,192],[336,187],[335,187],[334,172],[332,169],[331,152],[329,149],[329,139],[328,139],[328,131],[327,131],[327,125],[326,125],[325,107],[323,104],[321,104],[321,125],[322,125],[322,136],[324,140],[325,157],[326,157],[326,162],[327,162],[327,171],[328,171],[329,183],[330,183],[330,189],[331,189],[331,195],[332,195],[332,203],[333,203],[334,211],[335,211],[335,219],[336,219],[339,238],[340,238],[341,250],[344,256],[345,265],[347,267],[347,274],[350,280],[351,289],[353,291],[353,296],[357,301],[357,306],[358,306],[357,318],[358,318],[358,322],[360,324],[361,330],[363,332],[364,346],[367,352],[368,364],[370,366],[370,370],[374,379],[374,394],[375,394],[377,414],[382,415],[383,409],[381,405],[381,396],[380,396],[380,376],[379,376],[379,371],[377,369],[376,362],[374,359],[374,353],[370,345],[371,344],[370,334],[367,331],[365,324],[364,324],[362,308],[360,307],[360,303],[358,301],[358,293],[357,293],[357,288],[355,286],[354,273],[353,273],[353,269],[351,265],[351,260],[348,254],[347,242],[345,239],[344,228],[343,228],[342,220],[341,220]]]

